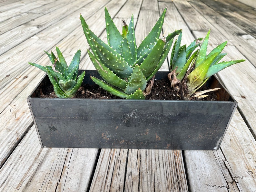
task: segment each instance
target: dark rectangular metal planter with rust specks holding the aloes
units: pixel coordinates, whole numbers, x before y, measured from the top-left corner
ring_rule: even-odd
[[[93,83],[98,73],[85,71]],[[208,83],[222,88],[219,101],[39,98],[49,83],[45,75],[27,98],[42,147],[219,149],[237,107],[215,77]]]

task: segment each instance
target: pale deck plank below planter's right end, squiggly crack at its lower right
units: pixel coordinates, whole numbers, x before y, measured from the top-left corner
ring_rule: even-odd
[[[223,176],[228,170],[221,167],[213,151],[185,150],[185,158],[191,191],[228,191],[227,182],[232,179]]]

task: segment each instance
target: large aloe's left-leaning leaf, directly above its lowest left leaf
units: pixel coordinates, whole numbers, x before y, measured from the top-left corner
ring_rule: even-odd
[[[103,63],[100,63],[97,58],[88,50],[88,55],[93,62],[95,69],[98,71],[100,76],[106,81],[107,83],[119,87],[120,89],[125,90],[127,87],[127,82],[123,81],[119,78],[115,73],[113,73],[108,67],[106,67]]]

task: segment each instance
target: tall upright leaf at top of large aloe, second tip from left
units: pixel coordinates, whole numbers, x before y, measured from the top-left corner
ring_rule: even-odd
[[[117,53],[121,53],[123,37],[116,28],[113,19],[108,13],[107,8],[105,7],[105,21],[106,21],[106,32],[107,32],[107,40],[108,45],[113,48]]]

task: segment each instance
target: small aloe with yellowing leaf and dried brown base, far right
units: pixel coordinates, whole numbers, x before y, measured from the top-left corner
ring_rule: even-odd
[[[234,60],[234,61],[223,61],[220,60],[227,55],[227,53],[221,53],[224,47],[227,45],[227,41],[221,43],[215,47],[209,54],[207,54],[208,40],[210,36],[210,31],[206,34],[201,47],[196,50],[190,57],[186,57],[186,63],[184,64],[184,56],[182,52],[177,53],[177,59],[175,62],[172,60],[172,64],[175,69],[171,68],[173,71],[168,74],[168,78],[172,82],[172,87],[177,90],[181,90],[180,94],[182,99],[190,100],[192,97],[203,98],[207,95],[202,95],[209,91],[215,91],[216,89],[206,90],[202,92],[196,92],[212,75],[221,70],[229,67],[233,64],[244,62],[244,59]],[[201,39],[199,39],[201,40]],[[193,44],[193,43],[192,43]],[[193,44],[192,47],[195,47]],[[175,49],[175,47],[173,48]],[[173,50],[172,50],[173,51]],[[174,57],[174,56],[173,56]],[[181,59],[183,58],[183,60]],[[180,62],[182,60],[182,62]],[[188,67],[190,69],[187,71]],[[180,70],[178,71],[178,69]],[[183,72],[185,69],[186,72]],[[178,73],[178,74],[177,74]],[[181,74],[182,73],[182,74]],[[180,89],[182,88],[182,89]],[[193,95],[196,93],[195,95]],[[193,96],[192,96],[193,95]]]

